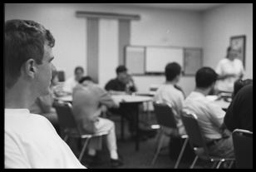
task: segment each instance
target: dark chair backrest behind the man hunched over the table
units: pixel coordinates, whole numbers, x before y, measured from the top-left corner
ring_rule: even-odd
[[[76,129],[76,120],[72,112],[71,103],[57,102],[54,103],[57,111],[59,125],[64,129]]]

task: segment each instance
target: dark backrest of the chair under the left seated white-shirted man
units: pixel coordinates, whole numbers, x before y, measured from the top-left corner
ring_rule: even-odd
[[[177,129],[175,115],[170,106],[158,102],[154,102],[153,106],[159,125]]]

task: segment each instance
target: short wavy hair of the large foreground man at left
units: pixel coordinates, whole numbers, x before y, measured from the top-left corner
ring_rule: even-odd
[[[54,47],[55,39],[49,30],[31,20],[8,20],[4,33],[5,86],[10,88],[28,59],[42,64],[45,43]]]

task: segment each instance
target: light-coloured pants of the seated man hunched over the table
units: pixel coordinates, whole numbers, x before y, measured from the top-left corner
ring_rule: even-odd
[[[101,133],[102,131],[108,131],[108,135],[106,135],[106,146],[109,151],[117,150],[116,145],[116,130],[115,124],[113,121],[100,118],[95,123],[96,133]],[[89,149],[98,150],[99,146],[101,145],[101,140],[98,137],[91,138],[90,144],[88,145]]]

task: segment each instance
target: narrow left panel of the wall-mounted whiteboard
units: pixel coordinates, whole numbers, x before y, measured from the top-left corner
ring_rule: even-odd
[[[144,74],[145,47],[126,47],[125,63],[130,74]]]

